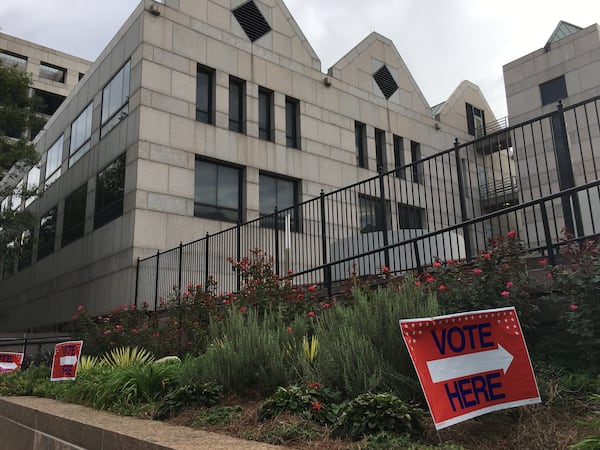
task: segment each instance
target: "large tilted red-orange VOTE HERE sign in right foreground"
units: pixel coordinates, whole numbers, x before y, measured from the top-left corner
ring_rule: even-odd
[[[400,321],[436,429],[539,403],[513,307]]]

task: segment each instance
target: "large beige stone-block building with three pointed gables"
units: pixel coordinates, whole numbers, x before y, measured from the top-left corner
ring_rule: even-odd
[[[143,0],[36,139],[40,224],[32,261],[4,274],[0,330],[107,313],[133,300],[138,257],[451,149],[486,119],[468,82],[432,110],[377,33],[325,74],[281,0]],[[396,182],[458,195],[427,169]],[[378,229],[369,196],[350,202],[356,233]],[[411,202],[389,213],[451,214]]]

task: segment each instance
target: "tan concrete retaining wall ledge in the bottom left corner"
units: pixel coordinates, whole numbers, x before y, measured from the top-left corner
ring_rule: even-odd
[[[37,397],[0,398],[0,436],[2,450],[283,448]]]

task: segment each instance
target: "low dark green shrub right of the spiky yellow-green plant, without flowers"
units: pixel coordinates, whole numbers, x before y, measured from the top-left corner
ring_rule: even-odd
[[[213,406],[222,398],[223,388],[216,383],[199,383],[178,386],[160,401],[154,418],[158,420],[175,416],[186,406]]]

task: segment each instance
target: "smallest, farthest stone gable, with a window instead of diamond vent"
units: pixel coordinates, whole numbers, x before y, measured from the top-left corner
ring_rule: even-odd
[[[459,130],[467,130],[466,103],[479,108],[485,113],[486,124],[496,123],[496,115],[479,86],[468,80],[463,80],[452,92],[448,100],[437,105],[434,117],[439,122]],[[433,108],[432,108],[433,113]]]

